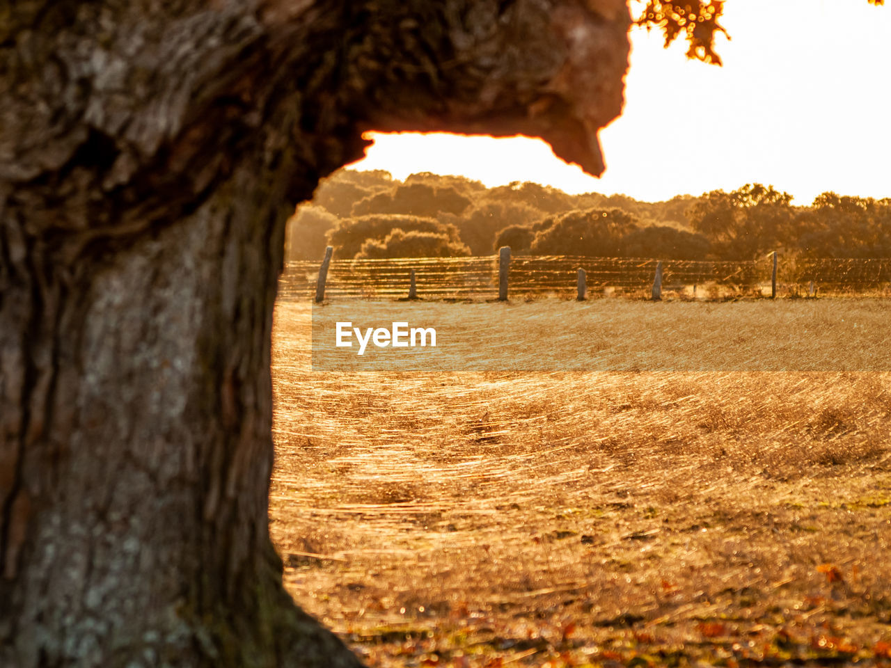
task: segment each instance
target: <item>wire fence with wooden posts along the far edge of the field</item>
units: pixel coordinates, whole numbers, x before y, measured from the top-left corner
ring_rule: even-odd
[[[696,297],[726,295],[809,296],[812,294],[887,293],[891,258],[779,258],[772,289],[774,257],[758,260],[662,260],[660,292]],[[499,297],[499,257],[433,257],[338,259],[334,253],[327,276],[320,262],[290,262],[279,284],[279,297],[401,298],[408,297],[415,276],[416,295],[423,299]],[[574,297],[579,269],[584,270],[587,296],[619,294],[657,297],[654,279],[659,261],[627,257],[513,256],[508,272],[510,296]]]

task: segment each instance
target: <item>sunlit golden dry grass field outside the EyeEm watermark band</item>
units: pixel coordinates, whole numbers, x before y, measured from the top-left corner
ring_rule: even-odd
[[[878,301],[752,307],[887,356]],[[271,530],[369,665],[891,664],[888,373],[311,371],[309,318],[275,314]]]

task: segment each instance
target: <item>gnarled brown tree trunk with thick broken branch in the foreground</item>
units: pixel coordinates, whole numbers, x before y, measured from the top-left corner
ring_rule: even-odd
[[[624,0],[0,3],[0,665],[347,666],[267,530],[283,226],[365,129],[601,171]]]

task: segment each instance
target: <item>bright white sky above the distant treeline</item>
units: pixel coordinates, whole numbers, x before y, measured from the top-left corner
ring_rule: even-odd
[[[687,61],[680,40],[666,51],[658,32],[634,29],[625,111],[601,131],[601,179],[522,137],[374,134],[352,167],[638,200],[753,182],[789,191],[797,204],[822,191],[891,196],[891,4],[729,0],[724,8],[732,41],[718,37],[722,68]]]

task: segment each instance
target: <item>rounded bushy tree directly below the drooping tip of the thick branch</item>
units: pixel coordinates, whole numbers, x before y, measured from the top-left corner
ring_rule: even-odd
[[[625,236],[638,229],[632,216],[617,208],[570,211],[549,216],[543,224],[530,248],[539,255],[625,255]]]

